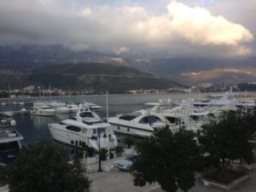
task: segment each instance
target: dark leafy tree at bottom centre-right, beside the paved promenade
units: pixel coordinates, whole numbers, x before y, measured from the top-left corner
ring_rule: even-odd
[[[143,186],[157,182],[166,191],[188,191],[195,185],[200,149],[191,131],[175,132],[166,127],[137,143],[137,156],[131,166],[133,183]]]

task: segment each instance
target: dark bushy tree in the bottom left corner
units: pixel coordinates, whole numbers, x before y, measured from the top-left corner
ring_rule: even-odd
[[[73,164],[67,161],[67,151],[48,141],[23,148],[5,171],[9,192],[89,191],[90,181],[84,177],[84,166],[78,159]]]

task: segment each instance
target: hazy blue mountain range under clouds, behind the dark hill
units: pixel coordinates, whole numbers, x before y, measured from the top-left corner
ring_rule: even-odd
[[[158,77],[177,81],[179,84],[188,85],[250,82],[255,81],[256,77],[256,57],[253,56],[236,59],[139,58],[134,55],[115,55],[96,50],[73,51],[61,45],[16,44],[0,46],[0,67],[12,66],[32,69],[79,62],[132,67]]]

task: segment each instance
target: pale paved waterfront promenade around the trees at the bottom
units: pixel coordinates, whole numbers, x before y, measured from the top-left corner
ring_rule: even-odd
[[[117,163],[119,160],[123,160],[124,157],[115,158],[111,160],[111,163]],[[157,183],[147,184],[143,188],[136,187],[132,183],[132,176],[130,172],[119,171],[118,168],[114,168],[113,172],[105,172],[104,167],[108,165],[107,161],[102,161],[103,172],[97,172],[98,164],[90,166],[90,172],[87,173],[91,180],[91,192],[164,192],[160,189]],[[256,169],[248,172],[249,179],[244,183],[241,183],[235,189],[231,189],[231,192],[256,192]],[[0,187],[0,192],[7,192],[7,186]],[[224,192],[224,189],[218,189],[213,187],[204,186],[199,180],[196,181],[195,187],[190,189],[189,192]],[[178,191],[182,192],[182,191]]]

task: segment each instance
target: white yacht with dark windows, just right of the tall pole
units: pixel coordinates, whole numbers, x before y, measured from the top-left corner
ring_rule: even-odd
[[[159,117],[145,109],[109,118],[108,123],[115,132],[137,137],[151,136],[154,129],[166,125]]]

